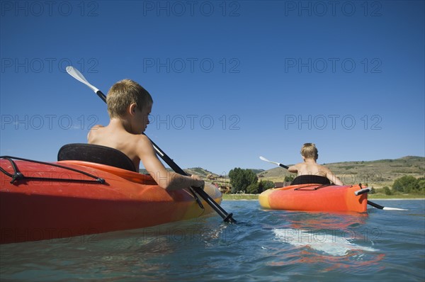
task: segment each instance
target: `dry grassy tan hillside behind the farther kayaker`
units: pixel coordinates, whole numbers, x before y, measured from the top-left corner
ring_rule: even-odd
[[[425,157],[402,157],[400,159],[380,159],[369,162],[336,162],[323,164],[331,169],[344,184],[368,184],[374,188],[391,186],[392,182],[404,175],[425,176]],[[276,167],[258,174],[260,179],[283,181],[290,174],[286,169]]]

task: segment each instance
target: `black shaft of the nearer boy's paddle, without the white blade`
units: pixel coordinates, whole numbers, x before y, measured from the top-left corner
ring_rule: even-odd
[[[103,102],[106,103],[106,96],[105,94],[102,93],[102,91],[98,90],[96,91],[96,94],[103,100]],[[144,133],[145,134],[145,133]],[[145,135],[147,137],[147,135]],[[157,154],[159,154],[159,157],[161,157],[164,162],[166,162],[166,164],[168,164],[171,169],[173,169],[174,171],[176,171],[176,173],[181,174],[183,176],[188,176],[188,174],[186,174],[185,171],[183,171],[183,169],[181,169],[181,167],[179,167],[164,151],[162,151],[149,137],[147,137],[150,142],[152,142],[152,146],[154,146],[154,150],[157,151]],[[196,193],[198,193],[198,195],[200,196],[200,198],[203,198],[205,202],[208,203],[208,205],[211,206],[211,208],[213,210],[215,210],[225,222],[231,222],[231,223],[236,223],[236,220],[234,220],[232,218],[232,213],[227,213],[219,204],[215,203],[215,201],[210,197],[210,195],[208,195],[208,193],[206,193],[205,191],[203,191],[202,188],[200,187],[191,187]],[[200,202],[199,202],[200,203]],[[200,203],[201,208],[202,204]]]

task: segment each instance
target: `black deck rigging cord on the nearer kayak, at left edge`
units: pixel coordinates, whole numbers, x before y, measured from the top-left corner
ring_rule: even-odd
[[[40,162],[40,161],[35,161],[33,159],[23,159],[20,157],[10,157],[10,156],[0,156],[0,159],[7,159],[10,163],[11,166],[13,168],[13,174],[8,173],[6,170],[4,170],[2,167],[0,167],[0,171],[3,172],[4,174],[6,174],[7,176],[11,177],[11,184],[13,184],[13,182],[18,181],[18,180],[42,180],[42,181],[69,181],[69,182],[83,182],[83,183],[97,183],[97,184],[105,184],[105,179],[102,179],[98,176],[94,176],[93,174],[89,174],[86,171],[81,171],[79,169],[73,169],[72,167],[65,167],[62,166],[60,164],[52,164],[50,162]],[[70,171],[75,171],[79,174],[84,174],[85,176],[89,176],[94,180],[84,180],[84,179],[58,179],[58,178],[50,178],[50,177],[35,177],[35,176],[25,176],[22,174],[21,171],[19,171],[18,167],[16,166],[16,163],[13,162],[13,159],[18,159],[20,161],[24,161],[24,162],[33,162],[35,164],[45,164],[47,166],[52,166],[52,167],[59,167],[61,169],[67,169]]]

